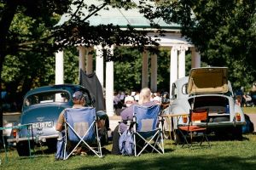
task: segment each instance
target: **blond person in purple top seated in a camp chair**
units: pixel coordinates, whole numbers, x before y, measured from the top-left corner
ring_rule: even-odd
[[[132,103],[129,107],[127,107],[124,111],[121,112],[122,122],[115,127],[113,131],[113,148],[112,154],[119,155],[119,133],[124,133],[127,129],[127,125],[125,122],[132,121],[133,119],[133,105],[144,105],[144,106],[152,106],[156,105],[153,101],[150,101],[151,91],[149,88],[143,88],[139,95],[138,103]]]

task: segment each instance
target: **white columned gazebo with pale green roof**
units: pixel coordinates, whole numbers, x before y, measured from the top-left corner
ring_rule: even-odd
[[[101,10],[97,15],[93,15],[89,18],[91,26],[98,26],[100,24],[118,25],[125,29],[127,25],[133,26],[136,29],[148,31],[148,37],[158,36],[158,33],[154,28],[150,26],[147,19],[143,17],[143,14],[138,13],[137,9],[124,10],[119,8],[108,7],[109,10]],[[84,12],[85,13],[85,12]],[[63,24],[70,17],[68,15],[62,15],[58,25]],[[166,31],[165,37],[157,37],[160,39],[160,47],[169,48],[171,51],[170,62],[170,94],[172,92],[172,83],[178,78],[185,77],[185,52],[190,49],[191,51],[191,67],[201,66],[201,55],[197,52],[195,46],[188,42],[184,37],[181,37],[180,26],[176,24],[166,24],[163,20],[155,20],[160,27]],[[110,50],[113,53],[113,48]],[[102,46],[85,48],[79,46],[79,69],[86,71],[87,74],[96,72],[96,76],[102,84],[102,89],[105,88],[106,99],[106,112],[108,116],[114,115],[113,110],[113,61],[106,62],[104,68],[104,59],[102,58]],[[91,50],[96,50],[96,65],[93,65]],[[63,74],[63,52],[59,51],[55,54],[55,84],[64,83]],[[157,55],[149,54],[145,50],[142,54],[142,88],[148,87],[148,74],[150,74],[150,87],[153,92],[157,91]],[[151,59],[151,72],[148,72],[148,59]],[[104,79],[105,74],[105,79]],[[104,83],[105,82],[105,83]],[[105,87],[103,87],[105,84]]]

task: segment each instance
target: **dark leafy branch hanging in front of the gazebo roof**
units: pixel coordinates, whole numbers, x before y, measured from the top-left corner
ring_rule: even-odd
[[[108,48],[113,44],[119,45],[132,45],[137,47],[140,51],[143,51],[146,45],[158,46],[152,37],[147,37],[148,31],[137,31],[132,26],[127,26],[126,29],[121,29],[119,26],[113,26],[113,24],[90,26],[90,22],[87,20],[90,16],[97,13],[99,10],[109,10],[108,6],[111,4],[112,8],[138,8],[140,13],[144,14],[151,26],[158,29],[159,26],[152,20],[152,5],[149,5],[149,1],[140,0],[139,3],[131,3],[131,1],[102,1],[97,5],[90,4],[88,1],[74,1],[73,8],[69,8],[68,16],[70,19],[61,25],[55,26],[53,31],[55,41],[55,48],[63,48],[67,46],[79,46],[90,47],[93,45],[102,45],[102,48]],[[147,2],[147,3],[146,3]],[[152,3],[153,4],[153,3]],[[88,13],[84,13],[87,11]],[[103,53],[107,60],[113,60],[114,57],[108,53]]]

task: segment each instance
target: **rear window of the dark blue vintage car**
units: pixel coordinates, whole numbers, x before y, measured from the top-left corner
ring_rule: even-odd
[[[32,94],[27,96],[24,100],[24,105],[37,105],[37,104],[44,104],[44,103],[65,103],[68,102],[70,96],[67,92],[63,91],[54,91],[54,92],[43,92],[39,94]]]

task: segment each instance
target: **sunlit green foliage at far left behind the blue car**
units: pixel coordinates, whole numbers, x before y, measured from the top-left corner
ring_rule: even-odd
[[[39,50],[31,51],[29,47],[32,46],[33,37],[40,39],[49,35],[44,23],[38,23],[32,17],[19,13],[15,14],[9,31],[12,35],[19,34],[16,37],[17,41],[29,44],[28,47],[20,45],[19,51],[6,55],[1,74],[5,86],[3,90],[11,94],[15,100],[12,102],[21,104],[22,96],[29,89],[53,83],[55,59],[53,54]]]

